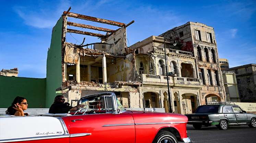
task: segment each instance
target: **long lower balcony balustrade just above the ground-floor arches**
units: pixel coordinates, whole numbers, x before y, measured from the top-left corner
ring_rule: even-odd
[[[143,82],[167,83],[167,76],[142,74]],[[199,79],[169,76],[170,84],[200,85]]]

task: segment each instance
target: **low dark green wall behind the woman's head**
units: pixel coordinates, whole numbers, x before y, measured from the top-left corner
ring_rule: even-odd
[[[11,106],[16,96],[27,99],[28,108],[45,108],[46,78],[0,76],[0,108]]]

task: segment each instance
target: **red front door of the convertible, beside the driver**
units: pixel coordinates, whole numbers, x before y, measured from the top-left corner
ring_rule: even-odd
[[[84,134],[70,138],[70,143],[134,143],[135,125],[132,115],[113,112],[112,101],[111,96],[92,98],[88,100],[88,105],[94,113],[88,113],[93,114],[70,116],[70,134]]]

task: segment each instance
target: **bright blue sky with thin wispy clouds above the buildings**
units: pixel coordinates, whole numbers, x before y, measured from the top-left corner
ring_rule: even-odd
[[[159,35],[187,21],[214,27],[220,58],[230,67],[256,63],[256,1],[1,1],[0,70],[17,67],[20,77],[46,77],[51,30],[63,11],[135,22],[127,28],[128,45]],[[68,19],[80,22],[78,19]],[[81,21],[81,23],[83,23]],[[92,24],[87,22],[85,24]],[[104,28],[118,27],[94,23]],[[92,31],[100,33],[98,31]],[[67,41],[93,43],[95,37],[68,34]]]

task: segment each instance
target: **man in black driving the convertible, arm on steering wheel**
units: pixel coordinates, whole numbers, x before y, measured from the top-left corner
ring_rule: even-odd
[[[69,106],[69,104],[65,103],[65,98],[62,95],[57,95],[54,99],[53,104],[49,109],[49,113],[51,114],[60,114],[60,113],[68,113],[69,111],[77,111],[80,107],[84,105],[77,105],[75,107]]]

